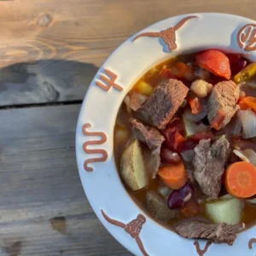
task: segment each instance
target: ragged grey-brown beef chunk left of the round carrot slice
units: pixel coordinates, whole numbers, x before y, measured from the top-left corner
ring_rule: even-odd
[[[230,155],[230,143],[225,136],[211,146],[210,139],[201,140],[195,147],[194,177],[208,198],[216,199],[221,189],[224,165]]]

